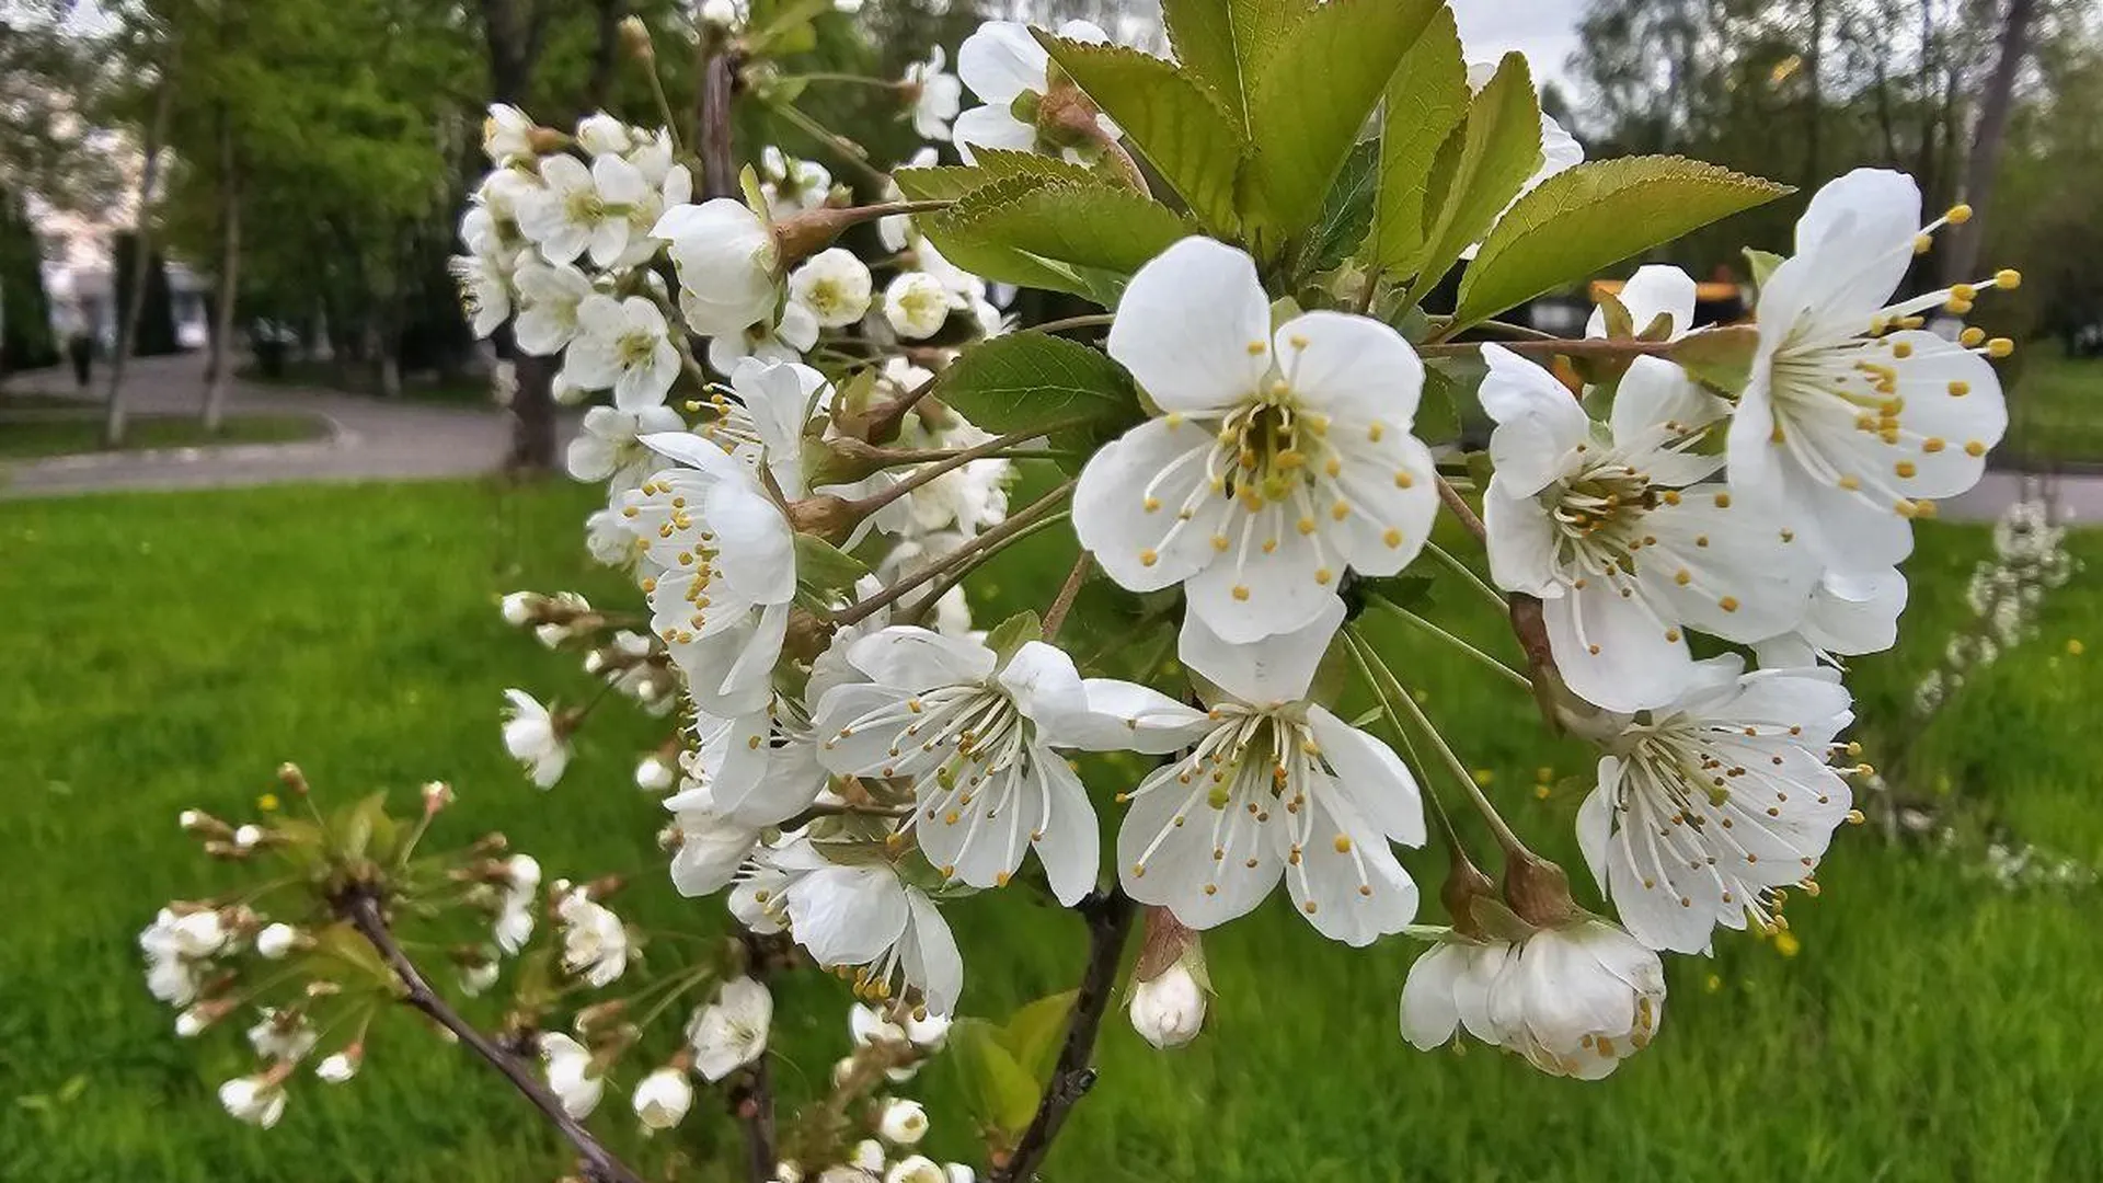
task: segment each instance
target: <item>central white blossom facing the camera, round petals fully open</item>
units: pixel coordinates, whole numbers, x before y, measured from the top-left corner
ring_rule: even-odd
[[[1131,278],[1108,352],[1163,410],[1096,453],[1081,545],[1119,585],[1184,585],[1230,642],[1295,631],[1346,570],[1394,575],[1438,493],[1409,434],[1424,364],[1401,333],[1310,312],[1270,330],[1255,263],[1184,238]]]

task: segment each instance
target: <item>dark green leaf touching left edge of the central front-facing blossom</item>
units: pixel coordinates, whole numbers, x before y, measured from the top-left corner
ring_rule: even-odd
[[[972,345],[942,370],[934,394],[1001,436],[1079,421],[1052,434],[1054,444],[1079,457],[1146,417],[1123,366],[1045,333],[1009,333]]]

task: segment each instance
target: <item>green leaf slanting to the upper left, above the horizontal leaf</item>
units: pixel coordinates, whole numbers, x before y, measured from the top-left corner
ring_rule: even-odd
[[[1115,44],[1083,44],[1030,29],[1060,69],[1123,128],[1167,177],[1190,213],[1218,236],[1239,227],[1234,177],[1245,139],[1207,86],[1176,63]]]

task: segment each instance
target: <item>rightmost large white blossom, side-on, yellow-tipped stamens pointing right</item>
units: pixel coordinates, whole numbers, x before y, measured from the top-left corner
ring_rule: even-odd
[[[1905,558],[1912,518],[1977,484],[2008,427],[1994,366],[1912,326],[1954,293],[1891,299],[1920,234],[1914,179],[1857,168],[1811,198],[1796,255],[1760,288],[1731,488],[1792,509],[1836,570]]]

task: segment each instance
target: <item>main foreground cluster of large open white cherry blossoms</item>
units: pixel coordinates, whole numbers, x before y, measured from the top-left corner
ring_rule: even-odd
[[[986,25],[959,67],[988,99],[957,120],[959,143],[1073,149],[1016,122],[1060,86],[1024,29]],[[1544,175],[1573,162],[1556,135],[1544,126]],[[911,219],[890,221],[885,248],[923,269],[881,297],[887,335],[854,253],[824,248],[782,274],[770,219],[818,208],[831,179],[778,154],[763,177],[763,210],[713,200],[656,225],[688,328],[717,343],[744,333],[721,356],[711,345],[717,368],[736,354],[728,387],[688,404],[692,427],[587,423],[591,463],[572,463],[610,484],[618,522],[593,530],[631,539],[650,644],[692,709],[683,749],[654,754],[648,777],[677,789],[665,802],[675,886],[730,888],[751,930],[787,933],[860,998],[944,1017],[965,979],[944,903],[1030,867],[1066,905],[1098,890],[1077,756],[1125,751],[1161,758],[1117,785],[1129,808],[1115,880],[1134,901],[1203,930],[1283,886],[1348,945],[1411,928],[1422,893],[1396,846],[1426,842],[1422,789],[1316,690],[1325,657],[1344,653],[1348,589],[1409,566],[1438,514],[1441,476],[1411,432],[1424,362],[1409,341],[1369,316],[1274,314],[1251,257],[1209,238],[1131,276],[1106,352],[1150,417],[1081,467],[1073,530],[1117,585],[1182,594],[1190,695],[1089,678],[1028,629],[967,634],[961,581],[940,604],[906,598],[1003,528],[1007,461],[965,457],[999,440],[917,404],[902,455],[965,459],[835,463],[841,423],[911,402],[938,368],[881,358],[873,394],[848,406],[795,360],[831,328],[877,347],[921,337],[917,286],[942,309],[930,324],[984,286],[944,278]],[[1853,810],[1830,762],[1853,720],[1836,663],[1893,642],[1912,522],[1979,478],[2006,421],[1983,356],[2006,345],[1945,341],[1918,314],[2015,278],[1893,301],[1933,232],[1918,204],[1912,181],[1867,171],[1811,202],[1798,253],[1762,288],[1735,398],[1657,349],[1581,392],[1481,347],[1491,581],[1539,602],[1560,714],[1600,745],[1577,838],[1626,930],[1554,909],[1508,916],[1495,935],[1455,918],[1411,977],[1413,1042],[1466,1025],[1541,1069],[1602,1076],[1663,1015],[1657,951],[1703,951],[1718,926],[1779,926],[1783,893],[1811,884]],[[1676,341],[1695,330],[1695,284],[1645,267],[1619,314],[1647,341]],[[1602,314],[1592,337],[1607,335]],[[810,535],[873,547],[877,577],[816,587]],[[1714,650],[1697,634],[1758,667],[1697,659]],[[519,707],[513,754],[545,773],[564,718]],[[1203,1010],[1203,983],[1167,973],[1134,1021],[1169,1046]]]

